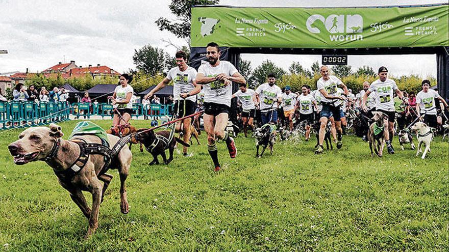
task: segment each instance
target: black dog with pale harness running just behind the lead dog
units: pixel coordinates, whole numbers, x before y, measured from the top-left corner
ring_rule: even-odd
[[[146,129],[139,129],[137,133],[132,135],[132,141],[142,143],[145,149],[153,155],[153,161],[149,162],[149,165],[159,164],[158,155],[162,156],[165,164],[170,163],[173,160],[173,150],[176,147],[176,142],[182,144],[183,146],[190,147],[189,144],[184,143],[180,138],[176,136],[171,137],[169,141],[170,131],[163,130],[154,132],[153,130],[142,132]],[[141,132],[141,133],[139,133]],[[165,150],[168,149],[170,156],[165,156]]]

